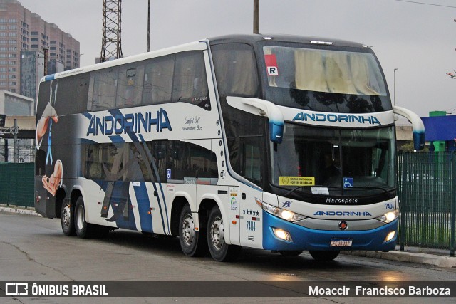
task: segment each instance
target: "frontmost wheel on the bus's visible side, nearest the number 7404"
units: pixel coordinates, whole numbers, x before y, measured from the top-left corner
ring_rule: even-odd
[[[241,252],[241,246],[225,242],[222,214],[217,206],[212,208],[207,221],[207,244],[212,258],[218,262],[234,261]]]

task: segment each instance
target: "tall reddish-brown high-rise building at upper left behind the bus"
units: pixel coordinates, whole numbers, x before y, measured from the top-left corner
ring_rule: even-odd
[[[48,62],[56,61],[51,67],[62,65],[64,70],[79,67],[79,41],[61,31],[56,24],[44,21],[19,1],[0,0],[0,90],[35,98],[35,90],[31,89],[34,85],[21,85],[21,81],[35,78],[33,81],[36,83],[41,79],[41,69],[30,68],[30,56],[33,53],[43,56],[46,50]],[[22,57],[27,59],[27,65],[21,65]],[[22,73],[36,70],[36,75],[21,75],[21,66],[28,67]]]

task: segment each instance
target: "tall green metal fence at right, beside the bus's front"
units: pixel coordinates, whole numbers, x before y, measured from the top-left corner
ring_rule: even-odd
[[[456,152],[398,154],[399,243],[455,255]]]

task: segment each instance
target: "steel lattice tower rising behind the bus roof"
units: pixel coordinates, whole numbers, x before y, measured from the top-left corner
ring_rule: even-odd
[[[100,61],[122,58],[122,0],[103,0],[103,41]]]

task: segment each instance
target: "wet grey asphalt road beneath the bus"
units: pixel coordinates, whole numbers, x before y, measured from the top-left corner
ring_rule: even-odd
[[[106,239],[64,236],[58,219],[0,213],[0,281],[456,281],[455,268],[341,255],[316,263],[247,249],[235,263],[188,258],[175,238],[113,231]],[[3,288],[3,286],[0,286]],[[233,297],[237,296],[232,290]],[[6,301],[5,301],[6,300]],[[1,303],[384,303],[380,298],[0,298]],[[388,298],[428,303],[430,298]],[[408,302],[410,300],[410,302]],[[413,301],[412,301],[413,300]],[[433,299],[435,300],[435,299]],[[455,298],[439,298],[454,303]]]

